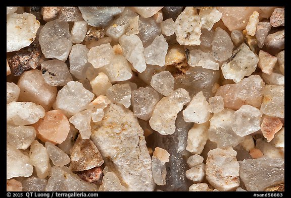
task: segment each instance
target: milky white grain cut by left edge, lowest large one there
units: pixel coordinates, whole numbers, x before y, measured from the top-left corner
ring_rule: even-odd
[[[20,150],[9,144],[6,145],[6,179],[12,177],[29,177],[33,166],[29,158]]]

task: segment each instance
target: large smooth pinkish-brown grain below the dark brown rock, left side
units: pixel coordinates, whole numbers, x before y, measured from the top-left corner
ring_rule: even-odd
[[[57,87],[45,83],[41,71],[24,72],[17,83],[20,88],[19,101],[34,102],[46,111],[50,110],[57,96]]]

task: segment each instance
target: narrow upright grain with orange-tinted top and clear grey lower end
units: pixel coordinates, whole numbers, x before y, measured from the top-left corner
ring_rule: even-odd
[[[166,162],[169,162],[170,154],[162,148],[156,147],[152,157],[153,178],[157,185],[166,184]]]

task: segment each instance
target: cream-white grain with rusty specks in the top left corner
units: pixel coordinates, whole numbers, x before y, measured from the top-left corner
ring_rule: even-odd
[[[30,13],[10,14],[6,19],[6,52],[17,51],[35,39],[39,21]]]

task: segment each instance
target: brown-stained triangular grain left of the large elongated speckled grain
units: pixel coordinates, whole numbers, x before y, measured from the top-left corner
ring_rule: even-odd
[[[90,139],[78,136],[74,147],[71,149],[71,164],[73,171],[89,170],[104,163],[99,150]]]

